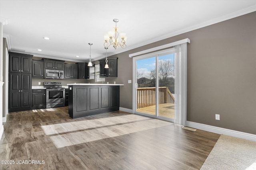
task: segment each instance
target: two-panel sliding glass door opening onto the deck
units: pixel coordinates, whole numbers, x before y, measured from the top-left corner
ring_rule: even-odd
[[[134,57],[136,114],[174,122],[174,49]]]

